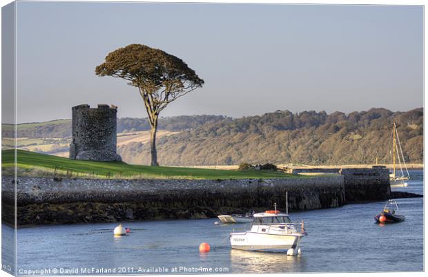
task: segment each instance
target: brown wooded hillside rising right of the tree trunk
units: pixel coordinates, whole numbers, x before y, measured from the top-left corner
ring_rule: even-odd
[[[384,108],[353,112],[276,111],[226,119],[163,137],[160,164],[213,165],[241,162],[275,164],[390,163],[391,124],[396,122],[406,162],[423,160],[423,110],[393,113]],[[119,146],[126,162],[149,164],[147,144]]]

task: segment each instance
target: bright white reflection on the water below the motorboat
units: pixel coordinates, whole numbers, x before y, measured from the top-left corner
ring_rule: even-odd
[[[269,253],[231,249],[233,272],[280,273],[302,271],[303,256],[287,256],[286,253]]]

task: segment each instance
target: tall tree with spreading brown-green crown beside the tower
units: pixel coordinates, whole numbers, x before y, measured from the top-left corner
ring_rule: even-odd
[[[175,99],[202,87],[195,70],[159,49],[130,44],[110,52],[106,61],[95,68],[98,76],[112,76],[129,81],[142,96],[150,122],[151,164],[157,163],[156,131],[159,113]]]

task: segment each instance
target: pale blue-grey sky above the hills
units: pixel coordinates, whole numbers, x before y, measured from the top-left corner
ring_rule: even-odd
[[[128,44],[205,80],[164,116],[407,111],[423,106],[422,23],[422,6],[19,2],[17,121],[70,118],[83,103],[146,117],[136,88],[94,73]]]

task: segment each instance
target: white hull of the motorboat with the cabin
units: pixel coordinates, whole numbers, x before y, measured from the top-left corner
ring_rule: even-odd
[[[296,249],[303,234],[277,235],[271,233],[231,233],[231,247],[246,251],[287,251]]]

